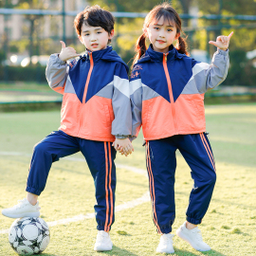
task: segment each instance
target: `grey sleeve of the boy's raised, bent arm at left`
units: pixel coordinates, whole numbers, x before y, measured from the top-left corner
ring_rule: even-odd
[[[69,65],[59,59],[57,53],[50,55],[46,66],[46,80],[54,91],[64,94],[68,71]]]

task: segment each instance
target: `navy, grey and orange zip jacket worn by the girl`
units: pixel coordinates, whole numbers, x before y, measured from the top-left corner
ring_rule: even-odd
[[[204,94],[226,79],[228,68],[229,50],[218,49],[205,64],[174,46],[167,53],[149,46],[130,78],[132,136],[141,125],[145,140],[205,132]]]

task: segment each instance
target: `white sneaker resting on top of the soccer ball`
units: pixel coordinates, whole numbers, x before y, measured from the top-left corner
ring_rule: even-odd
[[[40,216],[40,207],[39,202],[37,201],[35,206],[32,206],[27,198],[23,200],[18,200],[19,204],[14,207],[2,210],[2,214],[9,218],[24,218],[24,217],[39,217]]]

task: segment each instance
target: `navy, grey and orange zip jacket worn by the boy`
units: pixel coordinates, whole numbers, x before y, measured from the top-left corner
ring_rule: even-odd
[[[52,54],[46,79],[53,90],[64,95],[59,130],[99,141],[129,137],[132,113],[128,70],[111,46],[86,52],[70,64]]]

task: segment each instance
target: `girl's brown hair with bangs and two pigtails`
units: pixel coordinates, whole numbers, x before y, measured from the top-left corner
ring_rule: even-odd
[[[163,3],[161,5],[156,6],[154,9],[152,9],[146,16],[144,25],[143,25],[143,33],[139,36],[137,39],[137,43],[135,46],[135,50],[137,52],[133,66],[137,63],[137,60],[146,52],[146,34],[144,32],[144,29],[149,27],[151,23],[157,22],[161,17],[164,18],[164,20],[167,20],[170,24],[174,24],[176,27],[176,32],[181,33],[181,19],[174,8],[172,8],[168,3]],[[188,45],[186,43],[186,39],[179,36],[177,45],[175,46],[177,51],[179,53],[185,53],[186,55],[189,55],[189,52],[187,51]]]

